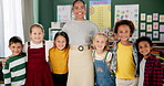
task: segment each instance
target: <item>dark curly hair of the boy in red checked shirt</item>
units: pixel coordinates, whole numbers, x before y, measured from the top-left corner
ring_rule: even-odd
[[[146,41],[150,44],[150,46],[153,46],[153,43],[152,43],[152,41],[151,41],[150,37],[147,37],[147,36],[141,36],[135,42],[135,45],[136,45],[137,51],[139,51],[139,43],[142,42],[142,41]]]

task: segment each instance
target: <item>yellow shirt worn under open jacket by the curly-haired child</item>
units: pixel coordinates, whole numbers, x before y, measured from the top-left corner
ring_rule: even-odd
[[[116,78],[133,79],[135,78],[135,64],[133,61],[133,45],[125,46],[121,42],[117,44],[117,69]]]

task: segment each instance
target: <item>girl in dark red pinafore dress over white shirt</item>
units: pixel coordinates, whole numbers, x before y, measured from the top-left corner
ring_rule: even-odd
[[[44,30],[40,24],[30,28],[31,41],[25,43],[28,54],[25,86],[53,86],[48,64],[49,49],[53,43],[43,41]]]

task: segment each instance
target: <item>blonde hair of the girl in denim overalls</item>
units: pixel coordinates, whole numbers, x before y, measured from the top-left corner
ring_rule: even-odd
[[[105,34],[105,33],[103,33],[103,32],[99,32],[99,33],[96,33],[94,36],[93,36],[93,41],[95,41],[95,39],[98,37],[98,36],[104,36],[105,39],[106,39],[106,45],[105,45],[105,47],[104,47],[104,50],[110,50],[110,47],[109,47],[109,36]],[[93,45],[93,50],[95,50],[95,46]]]

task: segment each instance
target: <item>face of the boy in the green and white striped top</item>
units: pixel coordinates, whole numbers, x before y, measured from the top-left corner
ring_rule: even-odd
[[[9,49],[12,52],[12,55],[19,55],[22,52],[22,44],[21,43],[12,43],[11,45],[9,45]]]

